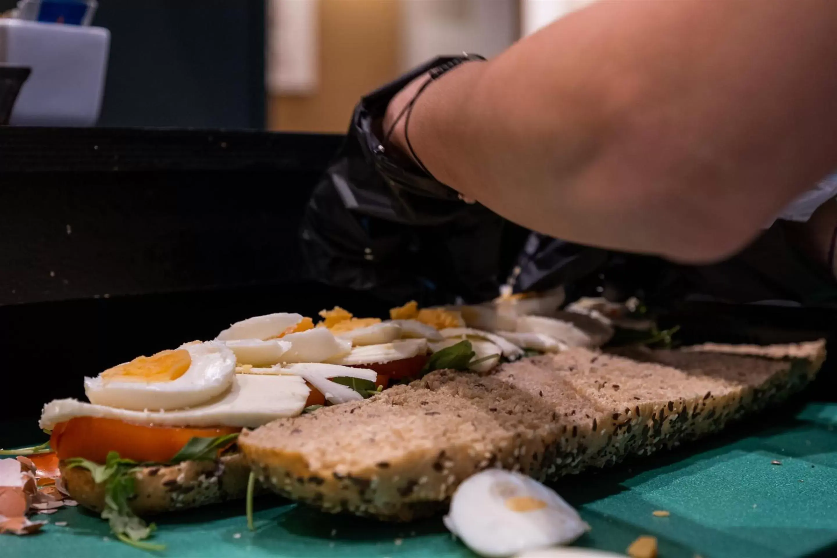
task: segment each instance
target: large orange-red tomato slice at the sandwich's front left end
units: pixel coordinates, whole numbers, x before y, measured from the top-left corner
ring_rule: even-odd
[[[114,418],[75,417],[59,422],[49,438],[59,459],[85,458],[105,463],[108,452],[134,461],[167,463],[192,438],[215,438],[241,428],[149,427]]]

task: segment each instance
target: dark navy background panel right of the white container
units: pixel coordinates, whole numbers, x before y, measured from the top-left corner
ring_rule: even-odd
[[[93,25],[110,29],[99,125],[264,129],[264,0],[100,2]]]

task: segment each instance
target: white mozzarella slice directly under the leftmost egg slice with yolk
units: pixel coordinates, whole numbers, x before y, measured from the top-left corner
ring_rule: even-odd
[[[40,425],[51,430],[74,417],[102,417],[147,426],[255,428],[276,418],[299,415],[310,392],[300,376],[238,374],[228,392],[200,407],[146,412],[59,399],[44,406]]]

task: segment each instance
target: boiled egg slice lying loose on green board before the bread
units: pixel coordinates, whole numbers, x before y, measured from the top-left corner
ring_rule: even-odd
[[[496,468],[460,484],[444,525],[471,550],[490,558],[566,545],[589,529],[554,490]]]

